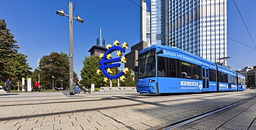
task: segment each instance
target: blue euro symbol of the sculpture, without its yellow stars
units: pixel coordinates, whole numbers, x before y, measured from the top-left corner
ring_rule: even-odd
[[[118,77],[120,77],[122,75],[122,71],[120,71],[120,73],[118,73],[117,75],[109,75],[107,73],[107,71],[105,70],[105,68],[113,68],[113,67],[120,67],[120,63],[115,63],[115,64],[111,64],[114,62],[120,62],[121,61],[121,57],[117,57],[117,58],[113,58],[113,59],[106,59],[107,55],[109,53],[112,53],[113,51],[116,50],[120,50],[122,53],[125,53],[125,49],[121,48],[120,46],[113,46],[111,48],[109,48],[106,53],[104,53],[102,60],[99,62],[100,64],[100,69],[102,69],[103,74],[106,77],[109,77],[109,79],[117,79]]]

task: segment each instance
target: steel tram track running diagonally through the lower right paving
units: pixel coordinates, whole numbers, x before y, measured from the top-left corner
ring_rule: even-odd
[[[232,107],[234,107],[234,106],[237,106],[237,105],[240,105],[240,104],[244,104],[245,102],[248,102],[248,100],[253,99],[254,97],[256,97],[256,96],[249,97],[249,98],[247,98],[247,99],[245,99],[245,100],[241,100],[241,101],[239,101],[239,102],[235,102],[235,103],[232,103],[232,104],[228,104],[228,105],[226,105],[226,106],[220,107],[220,108],[218,108],[218,109],[214,109],[214,110],[212,110],[212,111],[207,111],[207,112],[201,113],[201,114],[199,114],[199,115],[194,115],[194,116],[192,116],[192,117],[190,117],[190,118],[185,118],[185,119],[183,119],[183,120],[178,120],[178,121],[176,121],[176,122],[167,122],[167,123],[165,123],[165,124],[161,124],[161,125],[158,125],[158,126],[156,126],[156,127],[152,127],[151,129],[154,129],[154,130],[160,130],[160,129],[164,129],[164,130],[176,129],[176,128],[178,128],[178,127],[182,127],[182,126],[185,125],[185,124],[189,124],[189,123],[191,123],[191,122],[194,122],[194,121],[196,121],[196,120],[200,120],[200,119],[205,118],[205,117],[207,117],[207,116],[209,116],[209,115],[212,115],[212,114],[214,114],[214,113],[218,113],[219,111],[223,111],[223,110],[226,110],[226,109],[230,109],[230,108],[232,108]]]

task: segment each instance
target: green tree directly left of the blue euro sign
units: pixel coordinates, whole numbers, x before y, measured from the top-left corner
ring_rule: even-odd
[[[91,84],[95,84],[96,87],[104,86],[105,83],[103,82],[104,80],[104,75],[100,73],[98,75],[96,71],[98,70],[98,67],[100,64],[98,62],[100,61],[100,57],[95,57],[91,55],[91,57],[85,57],[83,60],[83,68],[81,70],[81,83],[90,86]]]

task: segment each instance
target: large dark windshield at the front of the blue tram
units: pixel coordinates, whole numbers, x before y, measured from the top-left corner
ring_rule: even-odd
[[[155,77],[156,76],[156,63],[154,61],[154,50],[143,53],[140,55],[139,62],[139,78],[143,77]]]

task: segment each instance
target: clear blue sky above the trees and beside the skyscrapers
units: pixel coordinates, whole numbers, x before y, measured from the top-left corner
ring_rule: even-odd
[[[0,19],[6,20],[7,28],[20,46],[19,52],[28,55],[28,63],[33,70],[37,67],[37,59],[44,55],[53,51],[69,53],[68,17],[56,15],[56,10],[61,9],[68,14],[67,0],[0,1]],[[71,1],[74,5],[75,0]],[[132,1],[139,4],[139,0]],[[256,1],[236,0],[236,3],[256,43]],[[100,28],[106,44],[113,44],[116,39],[121,43],[127,42],[129,49],[126,53],[140,41],[140,8],[129,0],[77,0],[76,15],[84,19],[83,24],[73,22],[74,71],[78,75],[82,60],[90,55],[88,50],[96,44]],[[228,0],[228,37],[255,48],[232,0]],[[231,57],[228,66],[233,69],[256,65],[256,50],[230,39],[228,56]]]

